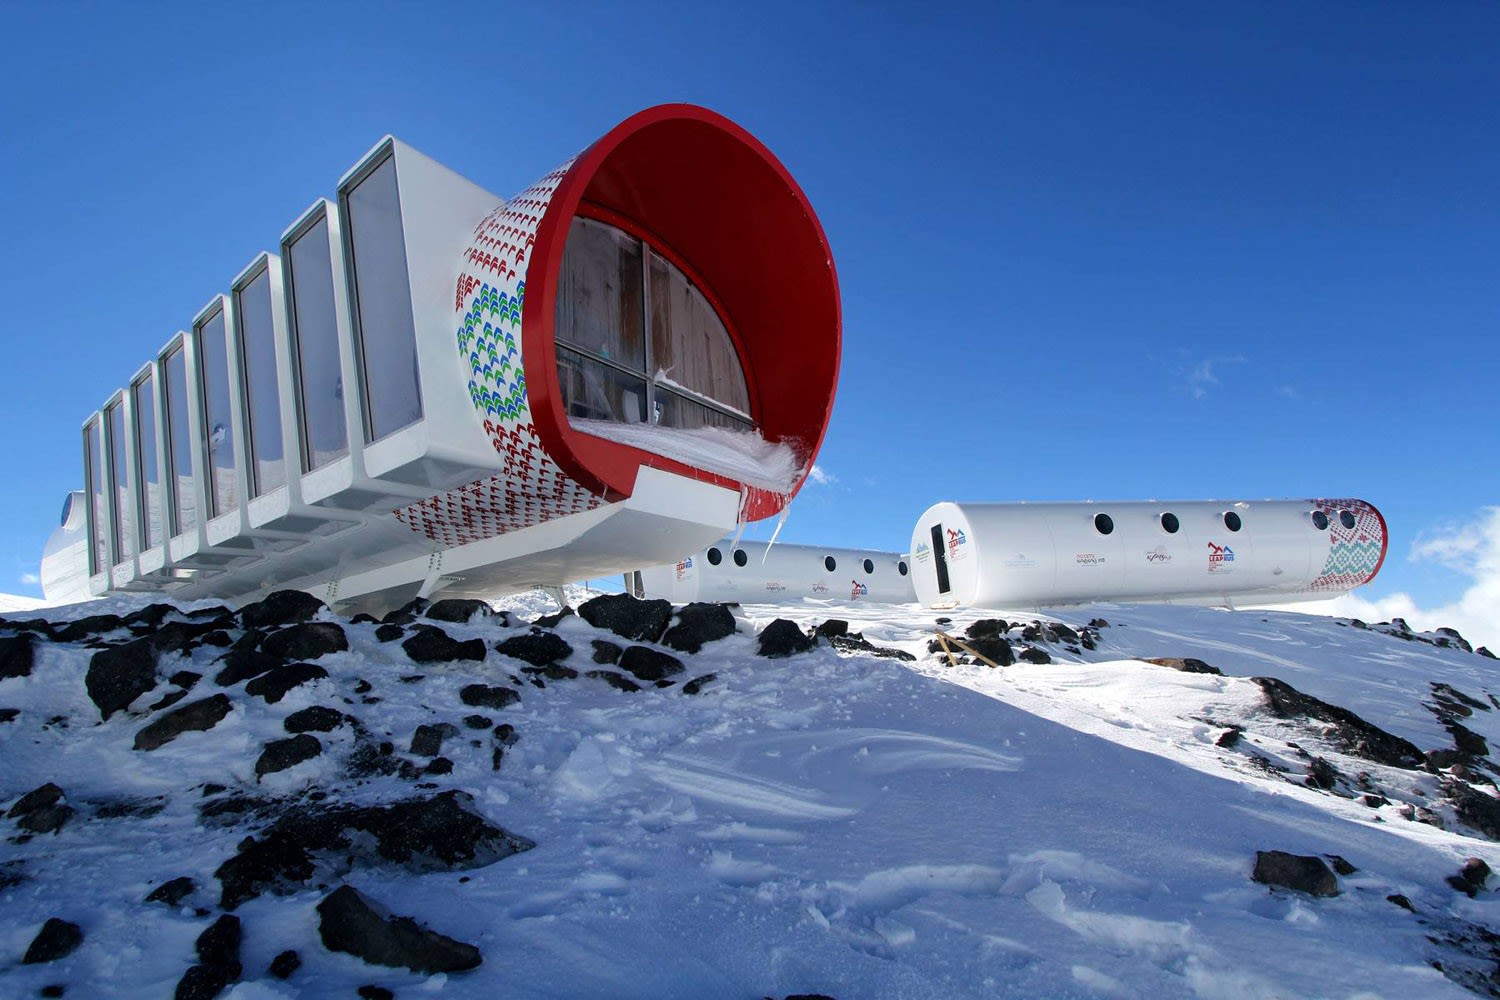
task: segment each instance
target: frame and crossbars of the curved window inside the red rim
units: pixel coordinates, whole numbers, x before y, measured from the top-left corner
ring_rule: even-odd
[[[750,366],[746,364],[744,342],[741,340],[740,333],[735,330],[734,324],[729,321],[729,315],[724,312],[723,304],[714,294],[712,286],[710,286],[708,282],[705,282],[702,276],[698,273],[698,270],[693,268],[682,258],[682,255],[680,255],[675,249],[672,249],[669,243],[662,240],[658,235],[656,235],[645,226],[621,216],[616,211],[610,211],[603,205],[585,201],[579,204],[578,211],[574,211],[573,217],[582,219],[584,222],[594,222],[598,225],[610,226],[640,244],[640,325],[642,325],[640,336],[642,336],[642,355],[645,364],[642,370],[636,370],[628,366],[620,364],[614,358],[606,358],[594,351],[590,351],[588,348],[562,340],[556,334],[556,327],[555,327],[556,319],[554,315],[554,334],[552,334],[554,366],[556,364],[556,348],[561,346],[580,357],[588,358],[590,361],[610,367],[622,375],[640,379],[642,382],[645,382],[645,394],[646,394],[645,405],[646,405],[648,426],[662,426],[656,423],[654,417],[657,411],[657,394],[664,393],[668,396],[676,396],[678,399],[687,400],[688,403],[698,403],[706,409],[714,411],[720,417],[730,421],[730,426],[736,430],[758,430],[760,426],[760,421],[756,418],[756,411],[759,409],[759,406],[756,402],[758,400],[756,387],[752,378]],[[572,228],[572,222],[568,223],[568,228]],[[566,249],[566,241],[564,241],[564,249]],[[729,346],[735,352],[735,360],[740,363],[740,376],[744,379],[746,399],[750,405],[750,412],[740,412],[734,406],[728,406],[686,385],[682,387],[660,385],[656,379],[656,372],[650,370],[651,360],[654,357],[652,351],[654,345],[651,340],[651,253],[658,255],[670,267],[675,267],[682,274],[682,277],[687,279],[688,285],[693,286],[704,297],[704,300],[708,303],[708,307],[714,310],[714,316],[718,319],[720,325],[723,325],[724,334],[729,337]]]

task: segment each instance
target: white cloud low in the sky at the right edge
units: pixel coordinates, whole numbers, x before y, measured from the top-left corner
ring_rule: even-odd
[[[1346,594],[1317,604],[1287,604],[1287,610],[1359,618],[1366,622],[1404,618],[1412,628],[1431,631],[1449,625],[1474,646],[1500,652],[1500,507],[1412,546],[1413,562],[1440,562],[1467,577],[1468,588],[1450,604],[1422,607],[1410,594],[1366,600]]]

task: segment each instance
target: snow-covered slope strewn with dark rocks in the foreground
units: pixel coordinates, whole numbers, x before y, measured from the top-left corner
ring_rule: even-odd
[[[970,657],[957,648],[957,666],[930,652],[939,625],[915,607],[744,607],[735,634],[696,654],[578,616],[528,628],[548,610],[534,598],[508,610],[408,621],[388,642],[375,624],[321,612],[350,648],[291,657],[327,676],[288,675],[303,682],[274,703],[264,676],[220,687],[231,646],[213,645],[274,648],[274,636],[260,640],[274,630],[246,640],[243,622],[210,613],[192,621],[222,634],[162,654],[152,691],[106,721],[86,687],[98,652],[87,643],[132,631],[90,631],[102,621],[38,639],[28,676],[0,679],[0,709],[16,709],[0,723],[0,804],[14,810],[54,783],[72,814],[30,837],[20,823],[34,813],[0,820],[0,886],[14,883],[0,889],[0,994],[66,984],[68,996],[170,996],[206,961],[195,940],[237,903],[243,972],[225,996],[242,999],[362,985],[512,997],[1494,996],[1496,901],[1448,879],[1468,858],[1500,864],[1473,798],[1492,795],[1500,685],[1494,660],[1449,637],[1281,612],[1100,606],[1047,619],[1068,631],[1005,622],[1011,649],[1052,663],[996,669],[962,663]],[[756,636],[778,616],[804,628],[846,619],[915,658],[849,639],[762,657]],[[994,625],[975,630],[990,645],[964,636],[978,618],[940,628],[993,654]],[[423,624],[482,640],[483,660],[412,663],[404,643]],[[570,652],[532,667],[495,649],[524,636],[555,636]],[[684,669],[657,687],[642,678],[663,661],[638,657],[627,676],[596,663],[596,642],[664,651]],[[465,693],[476,682],[519,700],[474,705],[508,700]],[[184,685],[174,706],[152,709]],[[153,720],[218,696],[225,711],[207,732],[134,748]],[[308,733],[316,756],[256,777],[267,745],[291,739],[286,718],[314,706],[346,718]],[[418,733],[441,723],[453,727],[440,736],[452,771],[430,763],[434,730]],[[423,753],[414,736],[429,742]],[[1407,744],[1448,753],[1407,760]],[[454,789],[472,796],[458,799],[468,816],[536,846],[492,864],[422,850],[400,861],[386,841],[370,847],[381,834],[356,832],[312,850],[303,882],[244,901],[226,900],[216,877],[296,829],[288,816],[348,823],[356,807]],[[1270,889],[1251,873],[1272,850],[1356,871],[1334,897]],[[177,906],[144,903],[183,876],[195,888]],[[318,906],[339,885],[477,946],[483,964],[423,975],[330,951]],[[82,943],[20,964],[48,918],[76,924]],[[300,969],[273,976],[291,949]]]

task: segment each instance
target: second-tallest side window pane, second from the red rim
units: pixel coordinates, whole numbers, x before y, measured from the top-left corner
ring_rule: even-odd
[[[348,454],[344,426],[344,369],[333,310],[328,220],[320,219],[286,247],[291,262],[292,343],[297,348],[297,409],[302,415],[302,468],[306,472]]]

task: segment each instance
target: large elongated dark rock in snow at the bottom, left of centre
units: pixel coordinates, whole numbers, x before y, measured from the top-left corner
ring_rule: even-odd
[[[357,889],[340,886],[318,904],[318,934],[330,952],[345,952],[374,966],[432,975],[476,969],[472,945],[429,931],[406,916],[390,916]]]

